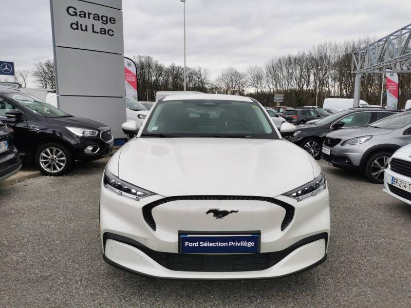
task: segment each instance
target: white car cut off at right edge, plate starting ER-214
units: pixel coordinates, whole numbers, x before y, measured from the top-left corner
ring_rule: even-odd
[[[398,149],[388,162],[384,189],[388,195],[411,205],[411,144]]]

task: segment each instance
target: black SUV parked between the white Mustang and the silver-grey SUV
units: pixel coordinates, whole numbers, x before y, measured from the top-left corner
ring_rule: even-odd
[[[346,109],[313,124],[297,126],[294,136],[287,140],[301,146],[315,159],[319,159],[327,133],[337,129],[367,126],[397,112],[400,111],[364,107]]]

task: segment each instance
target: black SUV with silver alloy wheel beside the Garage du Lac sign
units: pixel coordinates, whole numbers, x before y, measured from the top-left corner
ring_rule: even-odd
[[[0,120],[13,128],[22,160],[34,160],[45,175],[65,174],[75,160],[99,159],[114,145],[107,125],[73,117],[19,89],[0,87]]]

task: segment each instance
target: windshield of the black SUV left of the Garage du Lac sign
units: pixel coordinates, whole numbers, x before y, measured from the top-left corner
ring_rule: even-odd
[[[41,99],[27,93],[7,93],[4,95],[16,101],[17,103],[20,103],[34,113],[39,113],[47,118],[71,117],[71,115],[65,113],[64,111],[61,111],[60,109],[57,109],[50,104],[42,101]]]

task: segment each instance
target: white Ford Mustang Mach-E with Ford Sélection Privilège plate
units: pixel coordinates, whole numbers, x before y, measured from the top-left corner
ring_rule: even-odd
[[[279,131],[294,130],[284,123]],[[159,100],[104,171],[104,259],[183,279],[281,277],[323,262],[330,232],[325,177],[279,131],[250,98]]]

